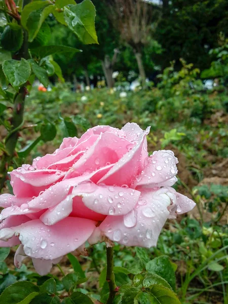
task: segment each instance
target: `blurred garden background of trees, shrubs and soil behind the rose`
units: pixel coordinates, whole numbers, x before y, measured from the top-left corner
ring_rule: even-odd
[[[39,141],[26,163],[53,153],[63,137],[81,136],[91,126],[151,126],[148,150],[174,150],[179,159],[176,188],[192,197],[197,207],[170,220],[158,247],[147,253],[168,255],[177,264],[182,303],[227,304],[228,2],[92,2],[98,45],[83,45],[53,15],[46,19],[43,44],[83,52],[46,57],[51,83],[45,88],[34,82],[26,98],[18,149],[32,144],[43,121],[55,125],[54,136]],[[37,40],[39,36],[34,47]],[[58,63],[58,72],[52,60]],[[0,131],[3,140],[3,126]],[[8,187],[10,191],[9,181]],[[102,246],[91,249],[91,257],[81,258],[84,270],[91,273],[85,283],[91,292],[102,286],[97,279],[105,263]],[[132,268],[137,253],[120,245],[115,250],[115,265]],[[6,263],[13,271],[12,256]],[[63,269],[69,271],[67,261]],[[23,275],[29,276],[26,272]],[[61,276],[57,267],[53,274]],[[22,272],[13,275],[20,279]]]

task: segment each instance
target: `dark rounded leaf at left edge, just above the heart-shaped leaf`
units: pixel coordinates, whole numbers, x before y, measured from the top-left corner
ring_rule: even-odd
[[[1,35],[1,45],[5,50],[16,52],[20,50],[23,43],[23,29],[19,27],[18,29],[11,28],[7,25]]]

